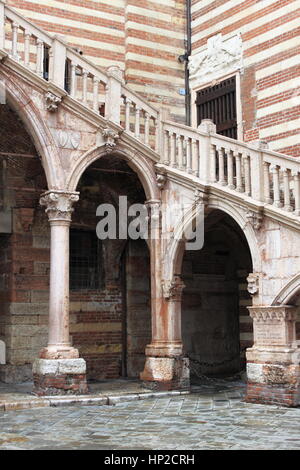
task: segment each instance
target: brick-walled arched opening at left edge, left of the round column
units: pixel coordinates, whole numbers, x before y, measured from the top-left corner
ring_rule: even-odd
[[[47,342],[49,226],[39,205],[45,172],[31,135],[0,105],[0,381],[32,380]]]

